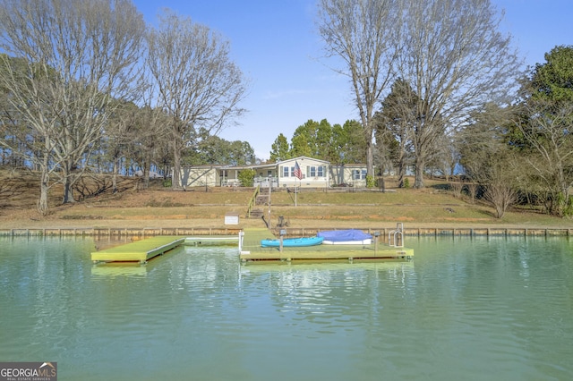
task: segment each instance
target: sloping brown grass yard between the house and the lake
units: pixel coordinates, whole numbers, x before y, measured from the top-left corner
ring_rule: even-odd
[[[171,190],[161,182],[141,190],[138,179],[125,178],[119,191],[98,195],[85,188],[80,202],[61,205],[61,191],[53,187],[50,212],[36,210],[38,189],[30,174],[2,173],[0,228],[38,227],[221,227],[225,216],[239,216],[238,227],[261,227],[261,216],[247,218],[252,188],[194,188]],[[388,179],[387,190],[331,189],[274,190],[256,206],[271,225],[279,216],[292,227],[388,227],[397,222],[407,226],[531,226],[573,228],[570,219],[546,216],[528,208],[514,207],[497,219],[493,209],[467,195],[455,197],[449,182],[429,180],[423,190],[398,189]],[[77,195],[77,194],[76,194]],[[78,195],[77,195],[78,196]],[[270,216],[270,218],[269,218]]]

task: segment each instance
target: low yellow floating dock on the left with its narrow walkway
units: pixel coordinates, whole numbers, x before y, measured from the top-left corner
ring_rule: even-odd
[[[133,241],[106,250],[91,253],[91,261],[98,262],[139,262],[146,263],[151,258],[174,250],[181,245],[186,246],[222,246],[237,245],[239,236],[210,236],[210,237],[178,237],[162,235]]]

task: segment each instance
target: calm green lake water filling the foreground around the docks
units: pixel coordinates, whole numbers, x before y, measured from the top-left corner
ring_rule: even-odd
[[[0,361],[60,380],[566,380],[566,238],[406,238],[407,263],[241,265],[180,248],[94,267],[90,239],[0,238]]]

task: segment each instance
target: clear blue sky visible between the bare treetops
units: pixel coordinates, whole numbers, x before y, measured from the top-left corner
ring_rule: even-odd
[[[133,0],[154,23],[162,7],[207,25],[227,38],[231,57],[251,80],[249,110],[220,137],[246,140],[261,159],[283,133],[287,140],[309,119],[345,123],[358,119],[345,76],[321,58],[314,0]],[[543,63],[557,45],[573,45],[573,1],[492,0],[505,9],[501,31],[510,33],[526,65]]]

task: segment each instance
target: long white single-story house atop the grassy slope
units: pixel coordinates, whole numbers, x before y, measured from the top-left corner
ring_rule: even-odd
[[[297,167],[298,166],[298,167]],[[329,188],[339,184],[364,187],[365,165],[330,165],[313,157],[295,157],[263,165],[193,165],[181,169],[182,185],[238,186],[241,171],[253,169],[253,186],[273,188]]]

